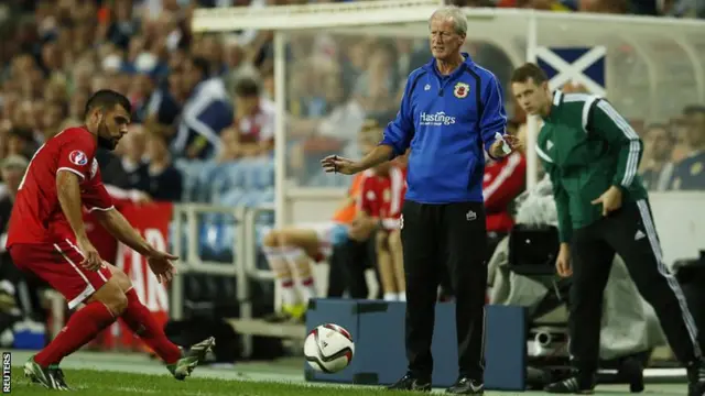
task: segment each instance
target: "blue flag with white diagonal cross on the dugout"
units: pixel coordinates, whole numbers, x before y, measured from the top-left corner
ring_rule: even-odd
[[[605,97],[605,58],[607,48],[595,47],[539,47],[536,63],[549,75],[551,90],[566,82],[584,86],[590,94]]]

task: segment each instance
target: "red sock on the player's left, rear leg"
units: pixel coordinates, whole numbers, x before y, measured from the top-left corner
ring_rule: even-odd
[[[88,302],[68,318],[66,327],[34,356],[34,361],[44,367],[61,362],[62,359],[93,340],[115,320],[112,312],[102,302]]]

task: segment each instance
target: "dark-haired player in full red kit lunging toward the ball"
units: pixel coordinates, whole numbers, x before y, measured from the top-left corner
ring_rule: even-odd
[[[24,365],[35,383],[68,389],[58,369],[63,358],[122,320],[183,380],[213,346],[209,338],[183,352],[164,334],[140,302],[129,277],[104,262],[86,235],[85,206],[116,239],[148,258],[160,282],[174,274],[171,261],[115,210],[95,160],[98,146],[113,150],[128,131],[131,106],[122,95],[101,90],[86,103],[85,125],[69,128],[46,141],[30,162],[20,183],[8,229],[7,246],[14,264],[58,290],[74,311],[66,327]]]

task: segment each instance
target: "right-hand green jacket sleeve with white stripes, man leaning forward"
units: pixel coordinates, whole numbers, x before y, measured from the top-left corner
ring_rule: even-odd
[[[585,106],[592,106],[586,130],[605,138],[610,146],[619,147],[612,186],[628,189],[637,176],[643,154],[641,139],[608,101],[598,99]]]

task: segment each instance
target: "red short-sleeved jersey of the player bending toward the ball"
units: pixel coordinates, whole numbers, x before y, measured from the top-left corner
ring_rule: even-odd
[[[80,199],[88,210],[108,210],[106,191],[95,158],[96,136],[85,128],[69,128],[34,153],[20,183],[8,229],[8,248],[15,243],[57,243],[75,235],[64,217],[56,191],[58,172],[80,178]]]

